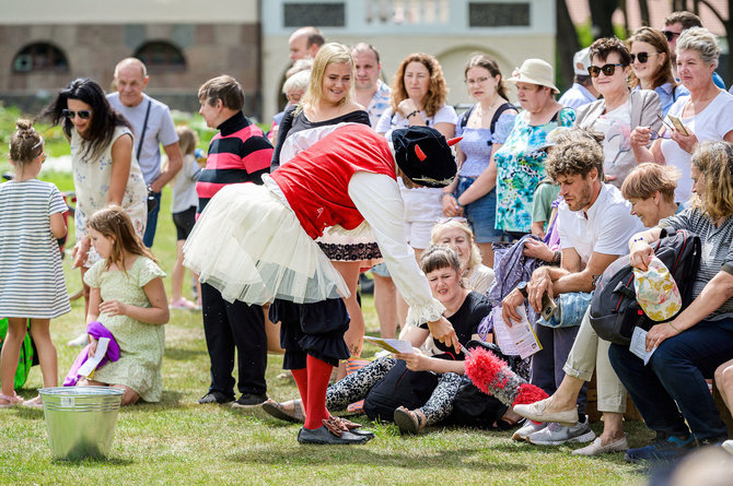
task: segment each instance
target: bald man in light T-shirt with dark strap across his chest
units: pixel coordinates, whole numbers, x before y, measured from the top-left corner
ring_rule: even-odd
[[[146,64],[136,58],[126,58],[115,67],[115,87],[117,93],[107,95],[109,105],[125,115],[132,125],[135,145],[132,151],[140,164],[146,185],[156,200],[154,209],[148,214],[148,224],[142,242],[153,246],[158,212],[160,210],[163,187],[183,167],[183,156],[178,149],[178,135],[166,105],[143,93],[148,85]],[[161,150],[163,145],[168,165],[161,168]]]

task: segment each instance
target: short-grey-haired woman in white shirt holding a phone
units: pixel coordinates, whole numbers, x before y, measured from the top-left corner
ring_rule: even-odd
[[[677,74],[690,95],[677,98],[668,115],[682,125],[675,128],[667,117],[661,138],[655,138],[653,127],[637,127],[631,133],[631,144],[639,163],[655,162],[679,169],[675,200],[686,202],[693,194],[690,157],[695,147],[705,141],[733,142],[733,95],[713,82],[720,47],[710,31],[701,27],[684,31],[677,38],[676,54]],[[650,140],[654,142],[647,149]]]

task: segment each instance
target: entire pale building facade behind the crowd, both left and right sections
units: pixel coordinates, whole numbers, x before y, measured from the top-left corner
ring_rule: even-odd
[[[33,112],[71,80],[109,88],[127,56],[150,70],[148,93],[174,108],[197,107],[196,90],[226,73],[245,87],[245,110],[270,120],[290,66],[288,37],[316,25],[328,40],[366,42],[391,79],[408,54],[434,55],[469,102],[463,64],[485,51],[505,75],[526,57],[555,56],[554,0],[24,0],[0,15],[0,100]]]

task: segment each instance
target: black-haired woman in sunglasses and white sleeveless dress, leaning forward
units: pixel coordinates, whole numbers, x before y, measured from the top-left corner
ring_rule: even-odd
[[[148,218],[148,189],[132,153],[130,123],[109,106],[104,91],[94,81],[72,81],[40,117],[48,118],[53,126],[60,125],[71,143],[77,191],[73,265],[81,265],[83,281],[86,269],[100,259],[91,248],[86,220],[97,210],[117,204],[127,211],[135,232],[142,238]],[[89,301],[86,285],[84,299]]]

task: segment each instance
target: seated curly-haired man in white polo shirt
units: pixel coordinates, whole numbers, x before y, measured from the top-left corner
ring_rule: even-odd
[[[560,294],[592,292],[606,268],[628,252],[629,238],[642,229],[640,220],[631,215],[631,204],[621,192],[603,182],[601,140],[603,135],[589,130],[566,129],[550,149],[547,174],[560,185],[563,198],[557,225],[561,265],[540,266],[525,286],[520,284],[519,287],[524,288],[512,291],[502,301],[504,321],[520,320],[516,307],[525,298],[539,312],[545,294],[555,298]],[[543,349],[532,357],[531,381],[551,395],[565,376],[563,365],[579,327],[538,324],[535,330]],[[580,393],[577,402],[580,420],[574,426],[552,424],[543,427],[528,423],[517,431],[523,435],[520,438],[537,444],[593,440],[595,435],[584,415],[585,401],[585,393]]]

